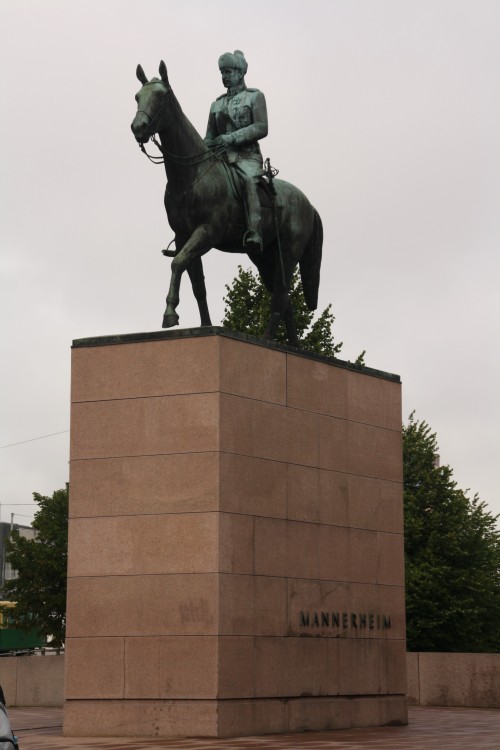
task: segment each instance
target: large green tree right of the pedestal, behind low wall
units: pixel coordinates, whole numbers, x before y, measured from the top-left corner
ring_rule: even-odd
[[[500,649],[500,532],[477,495],[437,466],[435,433],[403,427],[409,651]]]

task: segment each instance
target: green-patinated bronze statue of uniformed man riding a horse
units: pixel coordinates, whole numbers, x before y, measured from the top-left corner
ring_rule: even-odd
[[[163,328],[178,325],[176,308],[182,274],[187,271],[198,303],[202,326],[210,326],[202,256],[212,248],[247,253],[271,293],[271,314],[264,337],[276,336],[281,320],[287,338],[297,345],[289,288],[299,264],[304,298],[310,310],[318,302],[323,227],[320,216],[294,185],[275,179],[266,168],[259,140],[267,135],[264,94],[247,88],[247,63],[242,52],[219,58],[227,93],[211,108],[205,139],[183,113],[160,63],[160,78],[148,80],[137,66],[142,88],[136,94],[132,132],[141,149],[150,139],[167,175],[165,210],[175,233]],[[159,141],[156,139],[159,137]]]

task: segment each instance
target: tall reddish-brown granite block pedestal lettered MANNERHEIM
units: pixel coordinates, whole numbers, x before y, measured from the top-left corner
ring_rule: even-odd
[[[406,722],[399,378],[220,328],[72,355],[65,734]]]

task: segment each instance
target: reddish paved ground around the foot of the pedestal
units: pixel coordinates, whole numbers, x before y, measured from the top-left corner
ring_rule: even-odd
[[[11,708],[20,750],[500,750],[500,711],[412,708],[407,727],[242,737],[158,740],[62,736],[62,709]]]

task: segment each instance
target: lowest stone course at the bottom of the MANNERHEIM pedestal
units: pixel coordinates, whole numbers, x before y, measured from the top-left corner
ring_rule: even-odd
[[[242,737],[407,724],[400,696],[70,701],[67,737]]]

